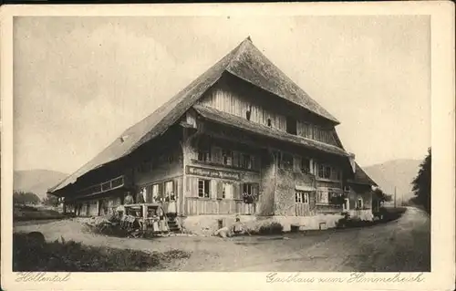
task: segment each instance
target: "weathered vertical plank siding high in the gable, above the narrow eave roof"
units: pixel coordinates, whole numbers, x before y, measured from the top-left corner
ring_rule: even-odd
[[[248,93],[233,90],[228,88],[223,82],[220,82],[217,86],[210,89],[198,102],[201,105],[218,109],[244,119],[246,118],[246,112],[250,110],[251,121],[267,126],[268,120],[271,120],[272,128],[286,132],[285,113],[277,112],[277,108],[274,106],[260,104],[258,99],[261,98],[250,97]],[[335,131],[333,127],[326,128],[307,120],[295,120],[297,135],[339,146],[334,136]]]

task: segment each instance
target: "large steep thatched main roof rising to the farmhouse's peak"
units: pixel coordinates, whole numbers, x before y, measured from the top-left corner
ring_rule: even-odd
[[[59,182],[48,192],[56,192],[86,174],[110,161],[116,161],[135,151],[141,144],[161,135],[200,99],[202,94],[222,77],[224,72],[233,74],[247,82],[263,88],[276,96],[286,99],[307,109],[316,115],[339,122],[326,109],[311,99],[306,92],[299,88],[290,78],[254,47],[250,37],[209,68],[189,86],[182,89],[176,96],[156,109],[150,116],[141,120],[130,129],[125,130],[118,139],[101,151],[94,159]]]

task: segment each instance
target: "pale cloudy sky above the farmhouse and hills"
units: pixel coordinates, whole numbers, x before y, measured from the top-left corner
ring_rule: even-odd
[[[428,16],[22,16],[15,170],[78,170],[247,36],[341,122],[359,164],[424,158]]]

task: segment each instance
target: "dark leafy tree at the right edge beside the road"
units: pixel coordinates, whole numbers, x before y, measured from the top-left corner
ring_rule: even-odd
[[[411,182],[413,192],[415,194],[413,203],[417,203],[424,207],[427,213],[430,213],[430,148],[428,149],[428,155],[424,158],[424,161],[420,164],[420,170],[417,176]]]

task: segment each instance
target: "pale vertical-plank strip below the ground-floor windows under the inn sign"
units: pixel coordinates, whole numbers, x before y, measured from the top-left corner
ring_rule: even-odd
[[[256,203],[244,203],[242,200],[207,199],[199,197],[185,198],[185,215],[199,214],[254,214]]]

